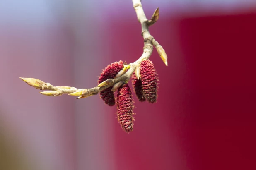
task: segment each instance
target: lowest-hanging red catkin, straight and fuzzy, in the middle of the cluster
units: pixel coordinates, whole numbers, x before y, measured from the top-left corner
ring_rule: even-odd
[[[117,117],[126,132],[133,130],[133,108],[132,91],[128,84],[124,84],[117,91]]]

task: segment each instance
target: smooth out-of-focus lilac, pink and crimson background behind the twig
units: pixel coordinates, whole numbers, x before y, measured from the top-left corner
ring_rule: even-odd
[[[137,60],[132,1],[0,1],[1,170],[256,169],[256,1],[142,5],[160,9],[150,33],[169,65],[155,50],[158,102],[135,98],[127,134],[99,95],[47,97],[19,77],[91,88],[106,65]]]

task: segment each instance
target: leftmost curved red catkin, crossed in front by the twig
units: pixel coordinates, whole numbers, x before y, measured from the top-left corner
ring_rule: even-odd
[[[116,74],[120,72],[123,69],[123,61],[114,62],[108,65],[103,72],[101,73],[99,77],[98,84],[102,83],[103,81],[106,81],[107,79],[114,79]],[[111,91],[113,86],[104,89],[100,92],[101,98],[105,103],[109,106],[115,105],[115,96],[114,92]]]

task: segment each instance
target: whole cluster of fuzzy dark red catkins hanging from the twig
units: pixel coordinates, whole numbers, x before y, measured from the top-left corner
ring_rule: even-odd
[[[107,79],[114,79],[118,72],[123,70],[123,61],[114,62],[108,65],[101,76],[99,84]],[[154,65],[150,60],[143,60],[140,64],[140,78],[137,79],[135,73],[132,75],[132,85],[139,101],[148,101],[155,103],[157,101],[157,74]],[[109,106],[115,105],[113,86],[101,91],[100,95],[103,101]],[[121,127],[126,132],[133,130],[133,98],[132,91],[127,83],[124,83],[117,90],[117,117]]]

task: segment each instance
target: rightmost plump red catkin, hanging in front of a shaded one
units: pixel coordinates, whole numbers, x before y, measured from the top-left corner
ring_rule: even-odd
[[[157,101],[157,74],[150,60],[144,60],[140,64],[140,77],[142,81],[142,93],[149,103]]]

